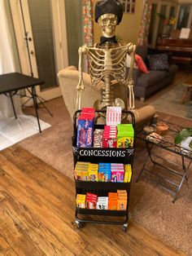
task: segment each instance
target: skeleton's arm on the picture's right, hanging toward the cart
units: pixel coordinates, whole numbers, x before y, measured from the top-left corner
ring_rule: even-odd
[[[134,91],[133,91],[133,66],[134,66],[134,60],[135,60],[135,51],[136,51],[136,46],[131,45],[129,46],[128,53],[131,55],[131,64],[129,68],[129,74],[128,78],[126,80],[126,85],[129,88],[129,110],[132,110],[135,108],[135,103],[134,103]]]

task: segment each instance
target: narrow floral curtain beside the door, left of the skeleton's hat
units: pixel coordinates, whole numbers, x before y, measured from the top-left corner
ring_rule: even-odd
[[[94,45],[93,37],[93,11],[94,2],[93,0],[83,1],[83,24],[84,24],[84,38],[87,46]]]

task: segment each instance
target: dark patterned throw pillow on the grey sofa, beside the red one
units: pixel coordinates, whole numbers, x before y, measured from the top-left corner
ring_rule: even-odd
[[[146,59],[151,70],[168,70],[168,55],[166,53],[147,55]]]

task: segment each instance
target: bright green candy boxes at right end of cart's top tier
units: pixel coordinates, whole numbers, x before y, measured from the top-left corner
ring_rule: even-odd
[[[133,148],[134,130],[132,124],[117,125],[117,148]]]

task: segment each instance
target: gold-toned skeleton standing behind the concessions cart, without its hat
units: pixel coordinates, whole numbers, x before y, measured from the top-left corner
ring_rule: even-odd
[[[114,14],[101,15],[98,18],[98,24],[103,29],[103,36],[105,38],[112,38],[115,36],[117,17]],[[111,43],[105,42],[102,46],[98,43],[93,47],[81,46],[79,48],[79,83],[76,86],[77,98],[76,109],[81,109],[81,93],[85,90],[82,76],[82,56],[89,56],[89,74],[91,82],[96,88],[103,89],[103,99],[99,104],[99,108],[106,108],[107,106],[120,105],[124,108],[122,99],[113,99],[111,91],[111,84],[114,80],[128,86],[129,88],[129,109],[133,110],[134,94],[133,94],[133,64],[136,46],[133,43],[121,45],[120,42]],[[131,56],[131,64],[129,68],[129,75],[125,79],[125,59],[126,55]],[[128,101],[128,100],[127,100]]]

